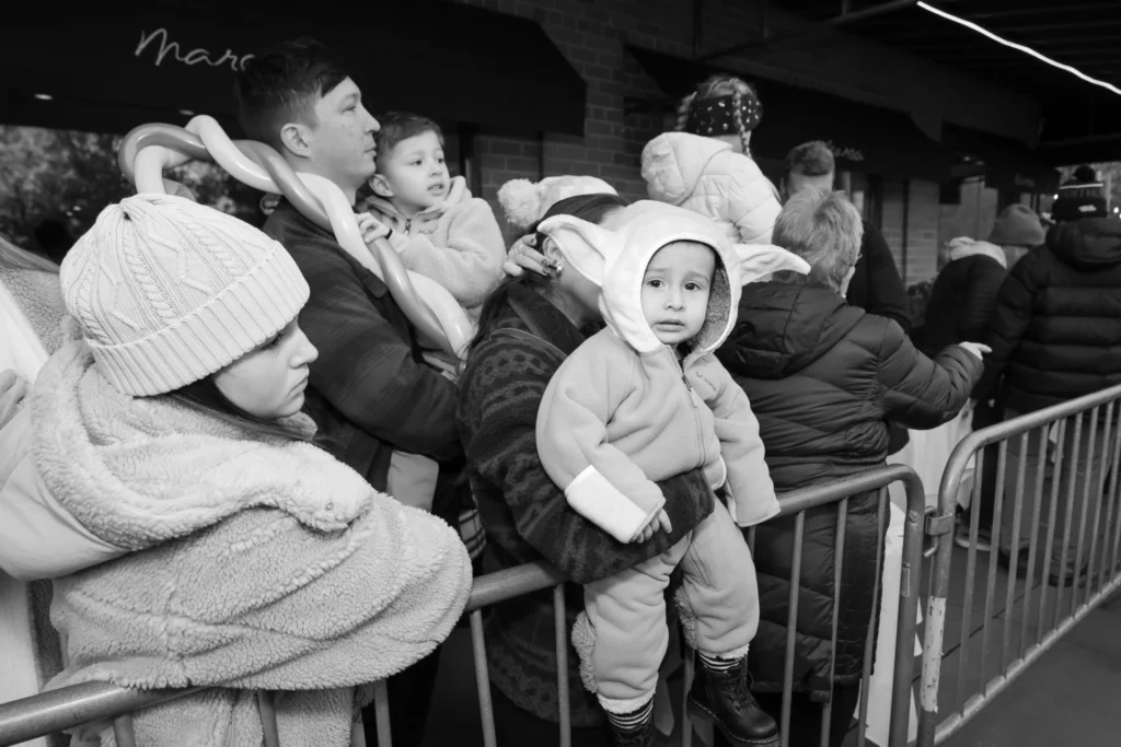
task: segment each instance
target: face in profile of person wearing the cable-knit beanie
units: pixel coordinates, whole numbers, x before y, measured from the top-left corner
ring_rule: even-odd
[[[319,352],[293,321],[214,375],[219,391],[245,412],[276,420],[304,407],[308,365]]]

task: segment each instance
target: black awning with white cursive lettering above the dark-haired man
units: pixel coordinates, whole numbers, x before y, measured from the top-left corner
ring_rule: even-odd
[[[344,1],[299,16],[260,0],[186,4],[124,0],[61,12],[36,2],[10,13],[0,123],[124,132],[206,113],[232,125],[234,71],[247,56],[312,36],[346,60],[373,113],[584,132],[586,84],[531,20],[432,0]]]

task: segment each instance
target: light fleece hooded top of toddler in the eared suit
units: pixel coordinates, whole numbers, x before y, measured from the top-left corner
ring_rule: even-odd
[[[659,208],[619,233],[589,236],[601,251],[612,240],[619,244],[604,260],[600,306],[608,328],[560,365],[537,421],[537,450],[549,477],[581,515],[620,542],[665,506],[657,480],[696,467],[713,487],[726,483],[742,525],[779,512],[759,423],[713,355],[735,325],[740,259],[708,221]],[[550,218],[541,231],[573,258],[594,226],[572,221],[567,227],[565,220]],[[708,244],[719,258],[705,323],[682,361],[658,340],[641,304],[647,265],[675,241]]]

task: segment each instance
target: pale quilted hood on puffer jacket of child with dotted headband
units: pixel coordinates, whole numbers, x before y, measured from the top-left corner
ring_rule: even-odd
[[[650,199],[680,205],[696,189],[708,164],[732,146],[715,138],[666,132],[642,149],[642,178]]]

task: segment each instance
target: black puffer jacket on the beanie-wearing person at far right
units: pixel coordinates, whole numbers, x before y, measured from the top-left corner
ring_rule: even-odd
[[[1019,412],[1121,383],[1121,221],[1062,223],[1008,273],[978,396]],[[1003,376],[1003,382],[1000,382]]]

